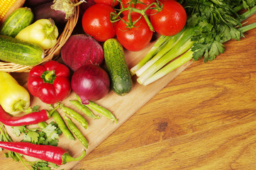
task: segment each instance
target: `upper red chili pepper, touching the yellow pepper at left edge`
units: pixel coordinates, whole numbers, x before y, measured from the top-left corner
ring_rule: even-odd
[[[44,122],[50,118],[50,113],[46,110],[28,113],[23,116],[11,116],[0,106],[0,122],[9,126],[34,125]]]

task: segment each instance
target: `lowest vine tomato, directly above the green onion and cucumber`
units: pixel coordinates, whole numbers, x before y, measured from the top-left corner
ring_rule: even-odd
[[[132,15],[132,21],[137,21],[140,16]],[[128,22],[128,16],[123,16],[123,20]],[[148,23],[142,17],[135,23],[133,28],[127,28],[126,23],[118,21],[116,26],[116,37],[118,41],[130,51],[142,50],[148,45],[152,38],[153,32],[148,27]]]

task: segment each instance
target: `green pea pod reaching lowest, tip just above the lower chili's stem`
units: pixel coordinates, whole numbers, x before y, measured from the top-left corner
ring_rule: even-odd
[[[67,127],[69,128],[69,130],[71,130],[71,132],[73,132],[74,136],[77,137],[77,139],[82,143],[82,145],[84,145],[84,147],[88,149],[87,138],[84,137],[82,132],[77,128],[76,125],[74,125],[72,120],[67,118],[67,116],[65,116],[64,118],[65,118],[65,121],[67,123]]]

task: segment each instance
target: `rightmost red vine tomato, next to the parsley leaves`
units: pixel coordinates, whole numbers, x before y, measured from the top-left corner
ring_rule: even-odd
[[[150,22],[154,30],[166,36],[179,33],[187,23],[187,13],[183,6],[177,1],[164,1],[162,11],[156,13],[152,10],[150,13]]]

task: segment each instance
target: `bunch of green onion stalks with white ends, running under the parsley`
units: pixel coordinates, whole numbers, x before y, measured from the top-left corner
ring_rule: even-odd
[[[240,22],[255,13],[256,6],[241,14]],[[247,30],[255,28],[255,25],[256,23],[252,23],[238,28],[238,30],[241,33],[245,33]],[[194,41],[191,40],[196,31],[198,31],[197,27],[186,27],[177,35],[160,35],[160,38],[155,42],[143,60],[130,69],[130,73],[138,76],[137,81],[139,84],[148,85],[189,62],[189,60],[193,59],[196,52],[192,50]],[[174,60],[175,58],[177,59]]]

